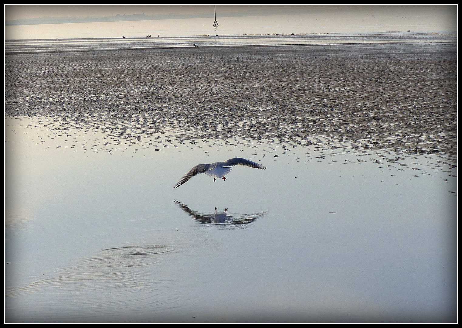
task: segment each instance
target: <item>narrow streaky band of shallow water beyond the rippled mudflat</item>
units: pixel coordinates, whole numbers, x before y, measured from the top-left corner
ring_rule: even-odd
[[[220,32],[218,32],[220,33]],[[152,36],[116,38],[51,38],[6,40],[6,54],[68,51],[107,51],[122,49],[161,49],[194,47],[283,46],[315,44],[375,43],[455,43],[455,33],[380,32],[380,33],[274,33],[271,35]]]

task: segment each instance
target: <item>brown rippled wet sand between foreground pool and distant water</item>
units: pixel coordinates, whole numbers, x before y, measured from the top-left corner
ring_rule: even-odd
[[[8,55],[6,115],[35,116],[44,138],[103,132],[94,150],[260,140],[455,159],[456,45]]]

